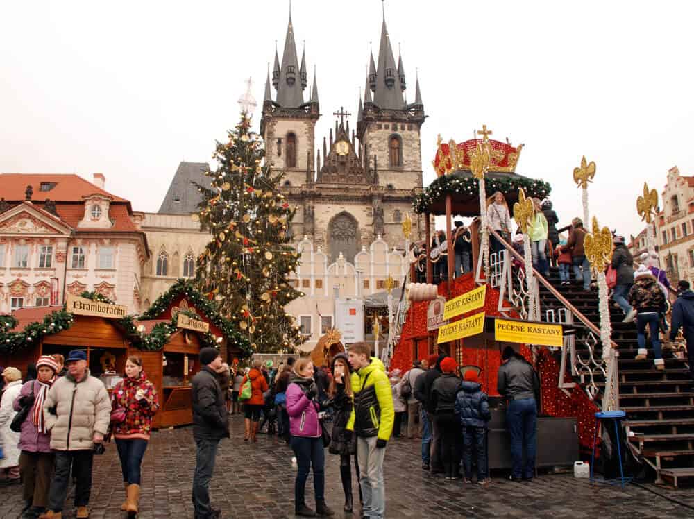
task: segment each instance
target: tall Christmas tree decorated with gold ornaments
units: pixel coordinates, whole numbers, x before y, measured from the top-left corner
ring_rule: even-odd
[[[196,283],[255,351],[291,350],[303,339],[285,305],[303,293],[289,283],[298,254],[288,232],[294,210],[278,189],[284,175],[263,160],[246,112],[228,137],[212,155],[218,166],[206,173],[210,186],[197,186],[204,199],[192,216],[212,240],[198,257]]]

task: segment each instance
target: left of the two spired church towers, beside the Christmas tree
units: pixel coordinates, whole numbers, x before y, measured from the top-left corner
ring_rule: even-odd
[[[266,160],[273,170],[285,172],[284,187],[310,184],[314,179],[314,128],[319,118],[318,84],[314,74],[308,101],[306,51],[298,62],[294,25],[289,25],[282,52],[282,65],[275,49],[272,80],[268,70],[260,119],[260,134],[265,141]],[[277,91],[272,99],[270,84]],[[287,189],[289,191],[289,189]]]

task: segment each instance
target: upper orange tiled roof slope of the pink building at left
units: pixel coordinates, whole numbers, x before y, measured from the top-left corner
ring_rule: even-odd
[[[49,191],[41,191],[42,182],[51,182],[56,185]],[[44,201],[50,198],[55,202],[81,202],[85,196],[101,194],[110,196],[114,202],[129,203],[125,198],[110,194],[74,174],[0,173],[0,196],[8,202],[24,200],[24,192],[28,185],[31,185],[34,190],[31,196],[32,201]]]

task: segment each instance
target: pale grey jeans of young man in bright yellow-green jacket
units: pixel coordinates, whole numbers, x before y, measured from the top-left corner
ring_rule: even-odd
[[[383,459],[386,448],[376,447],[376,441],[378,441],[376,436],[357,437],[357,458],[359,469],[362,471],[359,484],[362,486],[364,496],[362,516],[383,519],[386,513],[386,484],[383,479]]]

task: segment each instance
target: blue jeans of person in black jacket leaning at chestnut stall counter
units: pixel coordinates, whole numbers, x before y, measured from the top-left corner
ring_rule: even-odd
[[[511,436],[511,475],[531,478],[535,475],[537,405],[534,398],[511,400],[506,411],[506,422]],[[525,464],[523,447],[525,446]]]

